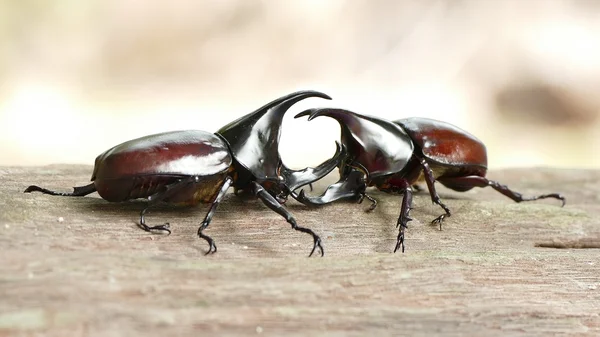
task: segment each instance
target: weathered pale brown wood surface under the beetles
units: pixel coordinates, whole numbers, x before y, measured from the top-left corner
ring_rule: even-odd
[[[306,209],[324,258],[307,258],[308,235],[258,201],[230,194],[207,230],[207,208],[160,207],[136,226],[142,202],[24,194],[31,184],[70,190],[89,166],[0,168],[0,336],[598,336],[600,172],[507,170],[490,174],[526,193],[516,204],[491,189],[440,187],[454,211],[414,200],[406,253],[392,254],[399,197]],[[59,221],[61,219],[62,221]],[[584,246],[585,246],[584,245]]]

